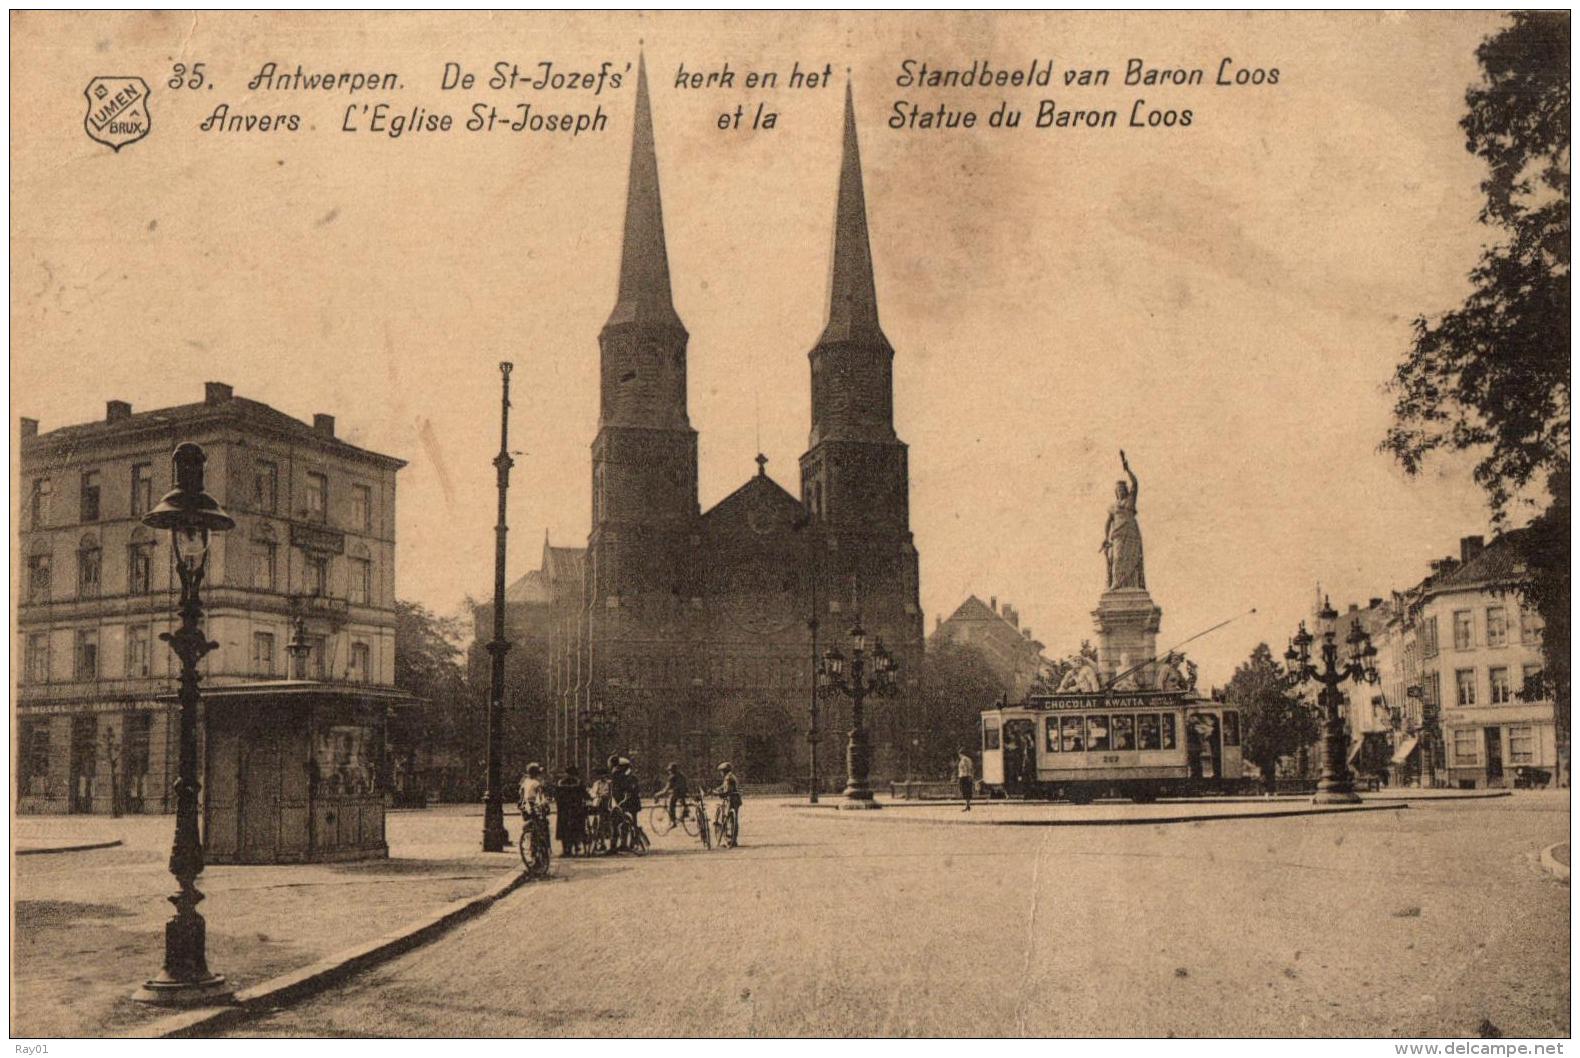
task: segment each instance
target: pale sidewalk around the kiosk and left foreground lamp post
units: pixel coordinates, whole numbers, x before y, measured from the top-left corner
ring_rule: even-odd
[[[163,962],[172,827],[172,816],[16,821],[17,850],[123,845],[13,859],[13,1037],[137,1036],[171,1014],[128,996]],[[514,848],[477,851],[476,805],[390,812],[387,837],[387,861],[204,870],[209,968],[246,989],[386,936],[521,867]]]

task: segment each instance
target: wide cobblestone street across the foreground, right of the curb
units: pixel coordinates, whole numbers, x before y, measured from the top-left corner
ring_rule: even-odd
[[[1569,889],[1539,864],[1566,791],[1169,826],[902,816],[747,801],[741,850],[676,832],[646,859],[556,861],[439,941],[231,1031],[1569,1033]]]

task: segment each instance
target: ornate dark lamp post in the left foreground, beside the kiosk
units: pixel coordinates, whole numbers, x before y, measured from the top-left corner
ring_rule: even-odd
[[[175,840],[171,845],[171,873],[180,886],[169,900],[175,916],[164,924],[164,970],[149,981],[133,998],[144,1003],[185,1006],[212,1003],[231,995],[224,977],[209,971],[207,933],[198,905],[198,875],[202,873],[202,840],[198,837],[198,662],[218,649],[202,630],[202,576],[209,565],[209,534],[234,529],[235,521],[218,501],[204,491],[202,448],[183,444],[175,448],[175,488],[164,494],[142,524],[169,529],[175,573],[182,581],[182,624],[161,640],[182,662],[180,676],[180,742],[175,778]]]

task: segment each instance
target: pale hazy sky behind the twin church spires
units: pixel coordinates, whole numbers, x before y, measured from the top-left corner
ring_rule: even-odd
[[[1123,448],[1141,480],[1160,647],[1207,682],[1281,647],[1316,584],[1343,606],[1414,584],[1488,532],[1471,461],[1416,480],[1378,452],[1411,321],[1454,308],[1493,238],[1457,122],[1498,17],[1413,14],[292,14],[14,16],[13,415],[43,430],[201,398],[204,381],[409,466],[397,586],[442,613],[493,576],[499,360],[512,360],[512,580],[545,531],[581,545],[597,332],[615,300],[634,69],[645,51],[675,305],[690,332],[703,508],[755,472],[799,493],[809,368],[828,305],[850,77],[894,406],[910,445],[927,628],[967,595],[1011,602],[1051,655],[1092,635],[1098,546]],[[896,84],[904,60],[1018,69],[1022,88]],[[1122,84],[1127,63],[1201,85]],[[1212,84],[1277,68],[1278,82]],[[395,71],[393,92],[265,92],[283,69]],[[442,90],[624,71],[591,92]],[[171,90],[172,63],[205,85]],[[689,71],[730,88],[678,88]],[[747,71],[831,68],[747,90]],[[1108,87],[1062,82],[1104,66]],[[847,74],[848,69],[848,74]],[[84,136],[82,87],[153,85],[152,133]],[[1231,74],[1232,79],[1232,74]],[[213,87],[207,87],[212,84]],[[1119,126],[1032,128],[1041,99]],[[1144,109],[1190,126],[1128,128]],[[602,107],[583,136],[344,133],[348,106]],[[896,101],[978,112],[890,128]],[[1000,101],[1022,126],[994,129]],[[199,129],[297,114],[299,133]],[[771,129],[750,129],[763,103]],[[743,106],[741,129],[719,129]],[[367,120],[354,115],[356,120]],[[1255,608],[1255,614],[1248,613]]]

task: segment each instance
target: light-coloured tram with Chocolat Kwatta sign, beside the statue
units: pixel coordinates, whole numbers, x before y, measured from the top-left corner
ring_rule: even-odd
[[[1240,714],[1185,690],[1033,695],[981,714],[989,796],[1068,799],[1237,793]]]

